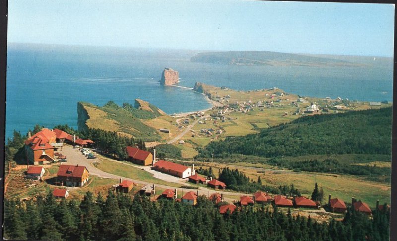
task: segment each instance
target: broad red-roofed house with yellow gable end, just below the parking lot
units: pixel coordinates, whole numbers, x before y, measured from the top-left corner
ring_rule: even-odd
[[[89,179],[89,172],[85,166],[60,165],[56,183],[63,186],[82,187]]]

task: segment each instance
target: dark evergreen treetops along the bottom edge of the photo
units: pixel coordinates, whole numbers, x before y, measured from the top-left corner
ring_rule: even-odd
[[[243,207],[222,215],[218,206],[200,196],[196,206],[170,200],[151,202],[145,196],[109,191],[106,199],[87,192],[83,200],[5,200],[4,236],[16,240],[98,241],[243,241],[318,240],[385,241],[389,211],[373,217],[349,209],[342,221],[317,223],[310,217],[265,207]]]

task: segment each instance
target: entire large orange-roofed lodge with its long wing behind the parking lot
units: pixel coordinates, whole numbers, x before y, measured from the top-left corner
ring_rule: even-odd
[[[91,140],[76,139],[75,136],[59,129],[50,130],[43,128],[33,136],[30,136],[29,132],[28,139],[25,141],[27,163],[33,165],[51,163],[55,160],[54,149],[62,147],[64,142],[80,146],[88,146],[94,143]]]

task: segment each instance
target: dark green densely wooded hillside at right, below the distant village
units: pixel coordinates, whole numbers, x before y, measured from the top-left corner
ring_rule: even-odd
[[[392,108],[305,116],[258,134],[211,142],[198,157],[391,154]]]

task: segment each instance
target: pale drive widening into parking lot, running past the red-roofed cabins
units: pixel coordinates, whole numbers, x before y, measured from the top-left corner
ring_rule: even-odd
[[[112,178],[112,179],[116,179],[115,180],[115,184],[118,182],[119,178],[122,178],[123,180],[129,180],[138,184],[144,184],[144,185],[153,185],[153,183],[150,182],[146,182],[146,181],[141,181],[141,180],[135,180],[135,179],[131,179],[131,178],[126,178],[123,176],[118,176],[118,175],[114,175],[114,174],[110,174],[107,173],[105,171],[102,171],[98,168],[96,168],[95,166],[91,165],[91,163],[99,161],[99,158],[97,159],[87,159],[80,151],[78,151],[77,149],[74,149],[71,146],[65,145],[62,149],[62,154],[66,155],[67,157],[67,162],[65,164],[67,165],[83,165],[85,167],[87,167],[90,175],[96,175],[102,178]],[[110,159],[109,159],[110,160]],[[123,163],[123,162],[119,162],[114,160],[115,162],[118,163],[122,163],[122,164],[126,164],[129,165],[127,163]],[[133,165],[132,165],[133,166]],[[181,179],[182,180],[182,179]],[[188,184],[188,183],[186,183]],[[155,184],[156,187],[160,187],[163,189],[177,189],[179,193],[183,192],[186,193],[188,191],[196,191],[195,189],[186,189],[186,188],[175,188],[172,186],[167,186],[167,185],[160,185],[160,184]],[[213,193],[223,193],[224,195],[232,195],[232,196],[243,196],[243,195],[247,195],[245,193],[237,193],[237,192],[222,192],[219,190],[214,190],[214,189],[208,189],[205,187],[199,187],[199,195],[211,195]],[[229,202],[233,202],[233,201],[237,201],[233,198],[224,198],[225,201],[229,201]]]

